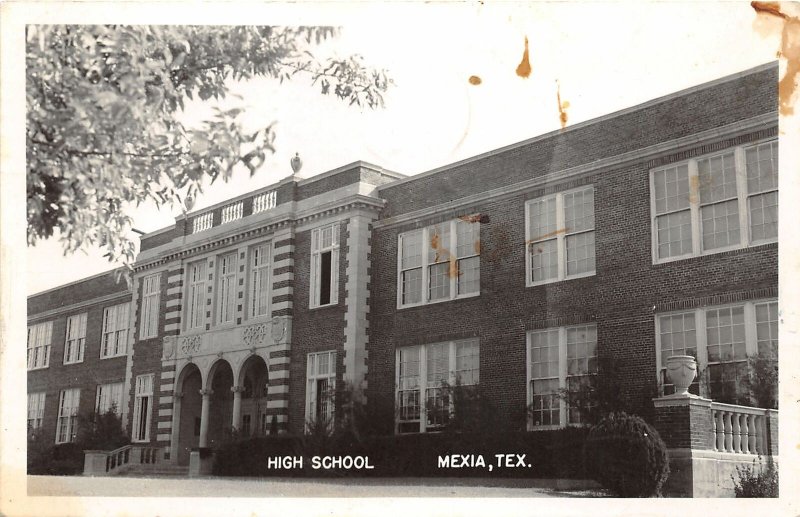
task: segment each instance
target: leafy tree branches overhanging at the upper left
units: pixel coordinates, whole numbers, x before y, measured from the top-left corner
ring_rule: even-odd
[[[29,25],[26,31],[28,244],[59,230],[66,252],[99,245],[130,263],[130,205],[182,202],[204,178],[253,174],[272,125],[245,131],[242,108],[199,128],[188,100],[226,98],[233,81],[305,75],[322,94],[369,108],[391,84],[355,56],[317,59],[331,27]]]

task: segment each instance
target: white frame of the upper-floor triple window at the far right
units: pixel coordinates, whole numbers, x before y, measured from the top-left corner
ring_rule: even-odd
[[[751,239],[751,227],[750,227],[750,198],[754,195],[764,194],[767,192],[778,192],[778,188],[776,187],[773,190],[766,190],[766,191],[759,191],[759,192],[748,192],[747,188],[747,170],[746,170],[746,159],[745,154],[748,149],[756,148],[762,144],[770,143],[770,142],[777,142],[775,138],[768,138],[765,140],[760,140],[755,143],[750,143],[747,145],[741,145],[733,148],[724,149],[722,151],[704,154],[702,156],[697,156],[695,158],[691,158],[689,160],[683,160],[680,162],[671,163],[666,166],[655,167],[650,170],[650,238],[651,238],[651,250],[652,250],[652,259],[653,264],[663,264],[666,262],[673,262],[676,260],[683,260],[686,258],[691,257],[699,257],[703,255],[713,255],[716,253],[722,253],[725,251],[735,250],[735,249],[742,249],[748,248],[753,246],[759,246],[762,244],[768,244],[772,242],[777,242],[777,236],[775,238],[770,239],[759,239],[757,241],[753,241]],[[739,243],[733,244],[730,246],[720,247],[720,248],[713,248],[713,249],[703,249],[703,234],[702,234],[702,214],[701,214],[701,206],[704,205],[703,201],[700,199],[700,177],[698,172],[697,163],[702,160],[708,160],[713,158],[718,158],[720,156],[728,155],[733,153],[734,158],[734,165],[736,168],[736,201],[737,201],[737,209],[739,212]],[[658,172],[661,172],[665,169],[671,169],[674,167],[678,167],[681,165],[687,165],[689,169],[689,211],[690,211],[690,221],[691,221],[691,231],[692,231],[692,251],[690,253],[684,253],[683,255],[676,255],[674,257],[664,257],[659,258],[658,256],[658,226],[657,226],[657,217],[664,216],[665,214],[656,214],[656,190],[655,190],[655,175]],[[779,174],[780,174],[780,165],[779,165]],[[732,198],[733,199],[733,198]],[[713,202],[709,204],[716,204],[722,203]],[[685,209],[683,209],[685,210]],[[780,224],[780,221],[778,222]]]

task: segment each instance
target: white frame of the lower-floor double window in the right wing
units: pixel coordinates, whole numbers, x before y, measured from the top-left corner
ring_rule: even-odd
[[[527,392],[527,404],[526,407],[530,408],[533,404],[533,381],[535,380],[533,377],[533,357],[531,354],[531,345],[532,345],[532,336],[536,333],[544,333],[544,332],[557,332],[558,333],[558,390],[559,392],[556,394],[559,404],[559,423],[558,424],[547,424],[547,425],[534,425],[533,418],[530,414],[528,415],[527,423],[528,423],[528,430],[530,431],[546,431],[552,429],[560,429],[563,427],[578,427],[585,425],[583,423],[572,423],[569,422],[569,405],[568,401],[564,399],[562,393],[565,393],[568,389],[568,353],[567,353],[567,333],[569,330],[578,329],[581,327],[592,327],[594,329],[595,334],[595,360],[597,360],[598,354],[598,340],[597,340],[597,324],[596,323],[579,323],[576,325],[567,325],[564,327],[548,327],[543,329],[536,329],[536,330],[529,330],[525,333],[525,372],[526,372],[526,392]],[[591,357],[591,356],[590,356]],[[587,372],[585,374],[580,375],[588,376],[588,375],[597,375],[597,371],[595,372]],[[555,377],[548,377],[548,379],[555,379]]]

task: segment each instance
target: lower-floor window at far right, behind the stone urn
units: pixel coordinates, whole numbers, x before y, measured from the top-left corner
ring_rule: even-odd
[[[704,378],[695,379],[690,392],[719,402],[749,404],[747,358],[758,352],[777,354],[778,302],[660,314],[656,317],[656,346],[659,383],[665,395],[675,392],[667,382],[667,358],[692,355]]]

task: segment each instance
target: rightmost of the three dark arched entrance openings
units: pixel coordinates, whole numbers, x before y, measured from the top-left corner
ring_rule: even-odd
[[[242,364],[239,373],[241,386],[241,433],[263,436],[270,432],[270,416],[267,412],[267,363],[258,355],[251,355]]]

